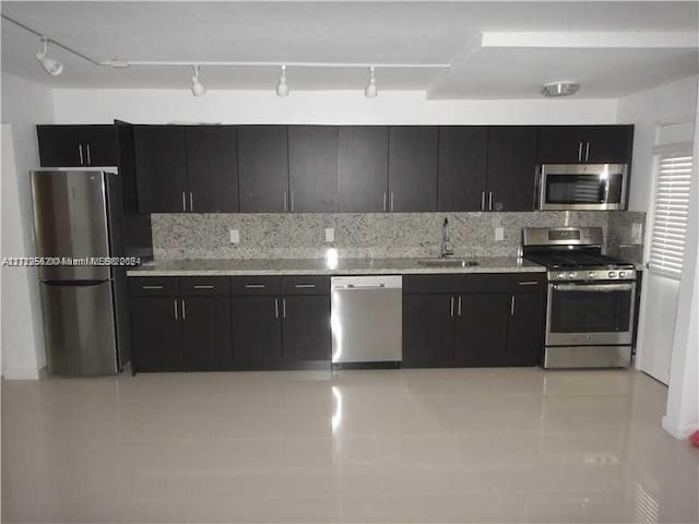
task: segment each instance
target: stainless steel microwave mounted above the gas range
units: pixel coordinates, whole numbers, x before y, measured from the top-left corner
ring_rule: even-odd
[[[627,183],[626,164],[542,164],[537,209],[625,210]]]

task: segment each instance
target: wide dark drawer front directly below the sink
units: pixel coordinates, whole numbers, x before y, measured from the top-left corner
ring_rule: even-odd
[[[507,293],[507,275],[406,275],[403,277],[404,294],[460,294],[460,293]]]

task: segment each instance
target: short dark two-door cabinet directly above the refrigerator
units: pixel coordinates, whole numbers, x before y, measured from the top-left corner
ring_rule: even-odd
[[[42,167],[117,165],[114,126],[37,126]]]

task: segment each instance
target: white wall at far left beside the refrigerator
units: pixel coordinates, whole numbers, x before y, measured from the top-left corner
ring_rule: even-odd
[[[1,87],[2,257],[28,257],[34,253],[28,170],[39,165],[35,126],[52,121],[52,96],[43,85],[5,73]],[[3,266],[1,293],[3,374],[37,378],[46,354],[36,271]]]

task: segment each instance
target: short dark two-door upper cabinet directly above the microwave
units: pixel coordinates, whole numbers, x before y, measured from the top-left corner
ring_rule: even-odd
[[[540,164],[630,164],[633,126],[538,128]]]

